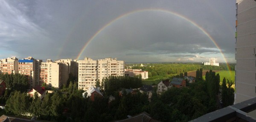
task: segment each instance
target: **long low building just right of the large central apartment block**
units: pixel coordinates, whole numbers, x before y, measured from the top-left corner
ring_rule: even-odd
[[[125,76],[138,76],[141,75],[141,79],[148,79],[148,71],[142,71],[141,69],[125,69]]]

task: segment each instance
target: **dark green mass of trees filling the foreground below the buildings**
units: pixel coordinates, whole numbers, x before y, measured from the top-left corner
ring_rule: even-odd
[[[140,77],[105,78],[100,86],[104,97],[96,97],[95,101],[82,97],[84,91],[79,90],[77,82],[73,81],[70,81],[68,86],[47,94],[42,100],[36,97],[36,94],[34,99],[27,96],[25,89],[16,88],[15,85],[9,92],[10,95],[6,96],[8,99],[5,112],[16,116],[30,114],[37,116],[38,119],[58,122],[109,122],[145,111],[152,118],[163,122],[187,122],[219,109],[219,89],[222,89],[224,95],[223,107],[233,104],[234,91],[230,87],[232,82],[223,79],[223,84],[226,85],[218,85],[219,75],[211,70],[207,72],[206,81],[203,81],[201,71],[202,69],[197,70],[196,82],[189,84],[188,87],[170,88],[162,95],[153,91],[150,102],[148,95],[139,91],[137,94],[119,95],[122,88],[140,88]],[[6,74],[0,78],[6,80]],[[10,79],[10,82],[14,82],[14,78]],[[111,102],[110,96],[115,97]]]

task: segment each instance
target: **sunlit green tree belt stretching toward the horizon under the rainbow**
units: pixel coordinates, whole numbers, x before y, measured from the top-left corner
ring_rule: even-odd
[[[135,65],[135,66],[134,66]],[[147,64],[143,67],[138,64],[126,65],[126,68],[131,67],[133,69],[142,69],[148,71],[148,79],[145,79],[143,84],[156,83],[155,80],[166,79],[172,77],[178,77],[182,75],[187,76],[187,72],[196,71],[197,69],[202,70],[221,70],[223,72],[235,70],[235,64],[229,64],[229,68],[226,63],[220,63],[220,66],[202,65],[198,64],[183,64],[183,63],[161,63],[161,64]],[[226,76],[226,75],[225,75]],[[147,82],[148,81],[148,82]],[[151,84],[152,85],[152,84]]]

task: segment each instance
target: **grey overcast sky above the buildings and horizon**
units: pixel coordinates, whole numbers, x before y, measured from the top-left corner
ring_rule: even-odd
[[[236,62],[235,20],[235,0],[0,0],[0,59],[76,59],[112,22],[79,60]]]

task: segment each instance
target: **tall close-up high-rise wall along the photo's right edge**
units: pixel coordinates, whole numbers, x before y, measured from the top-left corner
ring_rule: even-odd
[[[256,97],[256,0],[236,0],[235,103]]]

